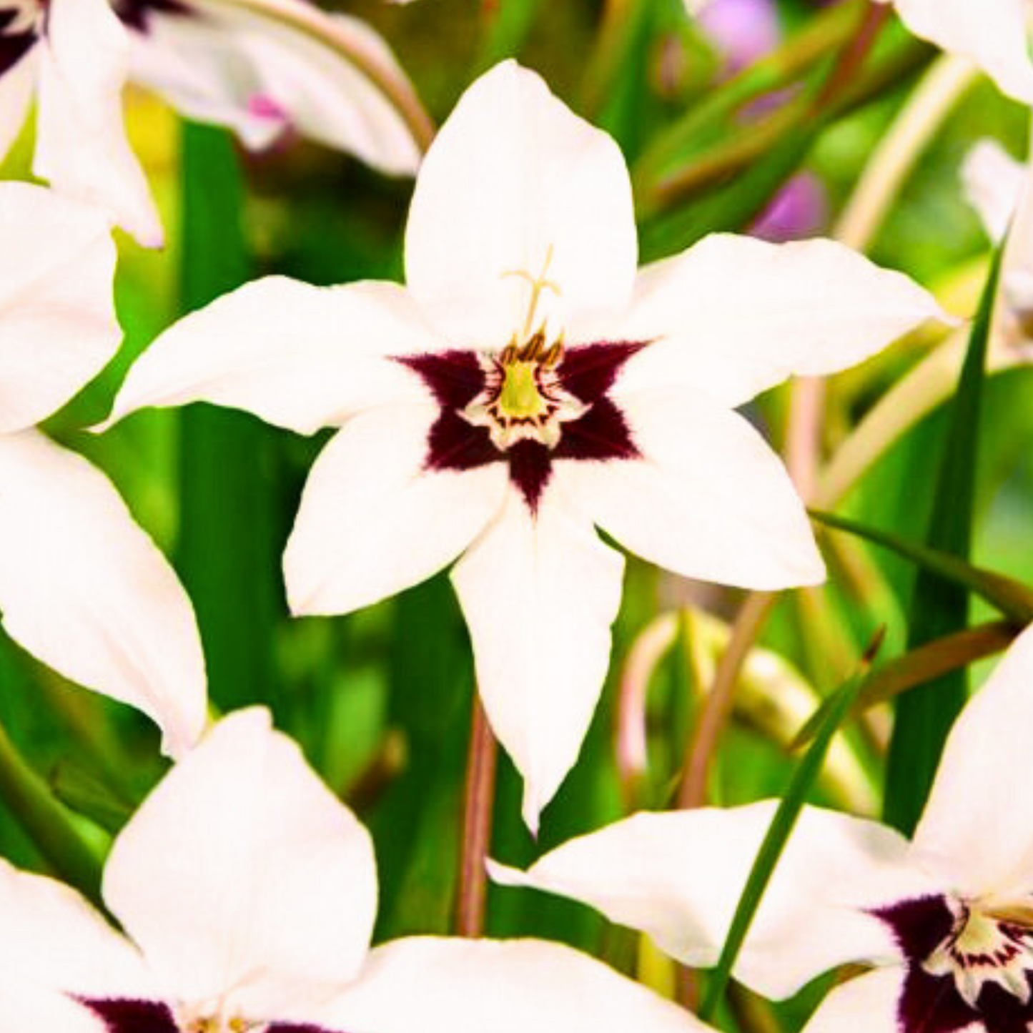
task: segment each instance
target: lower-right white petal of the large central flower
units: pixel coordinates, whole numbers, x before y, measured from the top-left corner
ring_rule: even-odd
[[[824,580],[789,475],[743,416],[688,392],[621,405],[641,459],[561,464],[607,534],[686,577],[752,589]]]

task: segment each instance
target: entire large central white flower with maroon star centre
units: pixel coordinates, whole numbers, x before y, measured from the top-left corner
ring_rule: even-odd
[[[342,430],[284,567],[295,614],[452,581],[532,826],[608,665],[623,559],[749,588],[824,575],[781,463],[733,411],[841,369],[939,310],[828,241],[712,237],[635,275],[614,142],[507,62],[431,148],[407,286],[249,284],[171,327],[114,416],[206,399]],[[441,687],[433,686],[434,690]]]

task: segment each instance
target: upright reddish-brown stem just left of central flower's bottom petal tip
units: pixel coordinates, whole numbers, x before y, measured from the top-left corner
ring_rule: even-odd
[[[470,749],[466,759],[466,793],[463,804],[463,854],[459,869],[456,932],[477,937],[484,928],[488,873],[484,860],[492,841],[495,804],[495,768],[498,744],[492,733],[480,697],[474,693],[470,721]]]

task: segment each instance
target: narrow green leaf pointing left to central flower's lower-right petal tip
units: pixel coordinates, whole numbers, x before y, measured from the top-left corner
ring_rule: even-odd
[[[966,592],[974,592],[1018,624],[1033,622],[1033,589],[1022,582],[994,570],[973,566],[949,553],[916,544],[889,531],[870,527],[847,516],[823,512],[820,509],[811,509],[809,512],[814,520],[827,527],[846,531],[891,550],[898,556],[910,560],[940,584],[947,583],[963,588]]]

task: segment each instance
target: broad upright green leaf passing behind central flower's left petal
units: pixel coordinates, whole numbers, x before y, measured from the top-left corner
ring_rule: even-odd
[[[183,127],[182,310],[248,279],[244,182],[230,136]],[[278,435],[246,413],[195,405],[179,413],[180,535],[176,565],[200,625],[209,691],[223,710],[272,703],[273,643],[285,612]],[[289,507],[288,507],[289,509]]]

